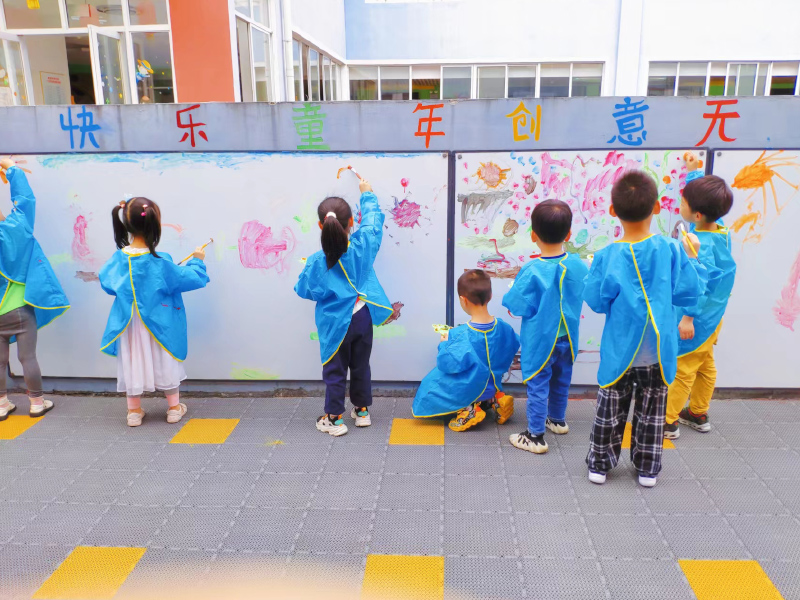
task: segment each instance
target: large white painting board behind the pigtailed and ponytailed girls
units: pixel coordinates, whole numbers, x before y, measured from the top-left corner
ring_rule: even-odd
[[[375,269],[400,318],[375,331],[372,376],[419,381],[436,359],[431,324],[445,320],[447,158],[438,154],[94,154],[26,156],[38,199],[35,234],[72,308],[40,331],[42,372],[116,377],[100,339],[112,298],[94,280],[115,250],[111,209],[159,204],[158,250],[175,260],[214,238],[211,283],[184,295],[191,379],[319,380],[314,303],[294,285],[320,249],[316,208],[330,195],[358,202],[352,165],[386,215]],[[8,203],[8,187],[3,188]],[[402,226],[401,226],[402,225]],[[243,228],[249,241],[241,241]],[[245,266],[247,264],[247,267]],[[20,373],[16,358],[12,369]]]

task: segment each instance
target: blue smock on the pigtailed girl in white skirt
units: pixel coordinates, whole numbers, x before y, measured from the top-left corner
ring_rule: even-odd
[[[183,292],[208,283],[206,265],[192,258],[179,267],[164,252],[128,254],[117,250],[100,269],[100,286],[114,296],[100,350],[117,355],[117,340],[128,328],[133,311],[139,313],[150,335],[177,361],[186,360],[188,337]]]

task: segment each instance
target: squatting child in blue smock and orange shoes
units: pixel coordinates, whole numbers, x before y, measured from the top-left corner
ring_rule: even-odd
[[[415,417],[456,413],[449,427],[465,431],[486,418],[481,403],[495,409],[503,424],[514,413],[514,399],[503,393],[503,375],[519,349],[508,323],[489,314],[492,280],[480,269],[458,278],[458,300],[469,323],[442,334],[436,367],[425,376],[412,405]]]

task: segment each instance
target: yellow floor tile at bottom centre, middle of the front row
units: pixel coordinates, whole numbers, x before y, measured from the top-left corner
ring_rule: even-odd
[[[443,597],[443,556],[367,556],[361,600],[442,600]]]

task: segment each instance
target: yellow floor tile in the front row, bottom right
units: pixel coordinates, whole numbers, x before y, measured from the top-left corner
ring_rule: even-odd
[[[783,600],[754,560],[679,560],[697,600]]]

